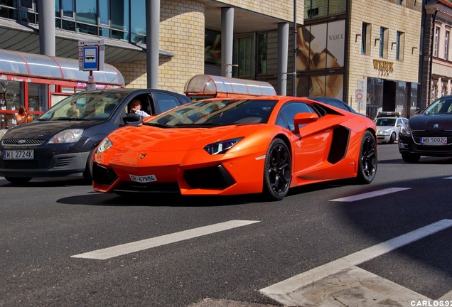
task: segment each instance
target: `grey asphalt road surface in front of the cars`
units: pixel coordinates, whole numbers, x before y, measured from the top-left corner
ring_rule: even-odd
[[[283,306],[261,290],[452,220],[452,159],[404,163],[397,144],[378,153],[370,185],[308,185],[279,202],[123,198],[79,178],[0,177],[0,306]],[[451,237],[445,227],[356,267],[447,300]]]

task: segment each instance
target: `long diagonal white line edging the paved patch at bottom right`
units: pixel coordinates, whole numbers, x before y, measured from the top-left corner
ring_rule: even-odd
[[[297,306],[294,296],[299,296],[300,291],[304,286],[314,286],[314,284],[317,284],[317,281],[325,279],[330,275],[344,271],[363,262],[367,262],[370,259],[379,257],[382,254],[391,252],[394,249],[419,240],[423,237],[432,235],[441,230],[445,230],[451,226],[452,220],[440,220],[431,225],[408,232],[405,235],[389,239],[388,241],[368,247],[367,249],[362,249],[359,252],[355,252],[354,254],[350,254],[328,264],[323,264],[322,266],[318,266],[310,271],[292,276],[289,279],[261,289],[260,292],[286,306]]]

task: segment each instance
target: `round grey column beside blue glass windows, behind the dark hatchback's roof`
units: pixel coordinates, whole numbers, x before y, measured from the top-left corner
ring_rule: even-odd
[[[158,88],[158,50],[160,36],[160,0],[146,0],[146,72],[147,87]]]

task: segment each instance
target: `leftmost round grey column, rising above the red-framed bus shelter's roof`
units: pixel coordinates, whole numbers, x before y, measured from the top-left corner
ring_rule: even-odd
[[[55,0],[40,0],[39,11],[39,53],[55,56]]]

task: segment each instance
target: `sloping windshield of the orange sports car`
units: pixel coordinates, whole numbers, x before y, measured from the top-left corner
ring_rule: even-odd
[[[159,126],[220,126],[267,123],[277,100],[224,99],[200,101],[161,114],[145,124]]]

